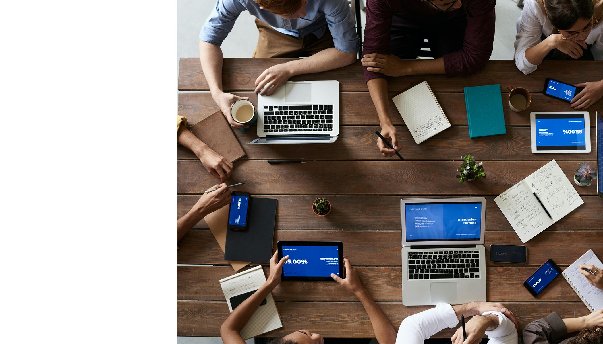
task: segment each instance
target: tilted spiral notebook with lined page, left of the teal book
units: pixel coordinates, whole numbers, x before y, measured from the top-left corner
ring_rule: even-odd
[[[427,81],[391,99],[417,145],[450,128],[450,121]]]

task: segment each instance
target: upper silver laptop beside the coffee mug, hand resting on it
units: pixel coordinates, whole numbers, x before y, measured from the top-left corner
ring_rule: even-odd
[[[288,81],[257,95],[257,136],[247,145],[333,143],[339,135],[339,81]]]

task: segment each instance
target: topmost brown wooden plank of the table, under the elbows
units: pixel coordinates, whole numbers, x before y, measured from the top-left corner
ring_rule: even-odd
[[[291,61],[289,58],[224,58],[223,87],[226,91],[251,91],[259,75],[268,67]],[[242,67],[244,66],[244,67]],[[244,70],[244,71],[242,71]],[[582,83],[603,79],[599,61],[544,61],[534,72],[524,75],[512,60],[490,60],[484,69],[474,75],[446,78],[445,75],[409,75],[390,78],[388,89],[401,92],[428,80],[434,92],[463,92],[463,87],[500,83],[525,87],[530,92],[541,92],[546,78],[557,78],[566,83]],[[360,61],[327,72],[297,75],[292,81],[338,80],[341,91],[367,91]],[[180,58],[178,90],[209,90],[198,58]]]

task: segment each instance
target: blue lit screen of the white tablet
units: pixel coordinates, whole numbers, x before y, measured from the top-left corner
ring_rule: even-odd
[[[537,151],[586,149],[586,124],[582,113],[537,113],[535,126]]]

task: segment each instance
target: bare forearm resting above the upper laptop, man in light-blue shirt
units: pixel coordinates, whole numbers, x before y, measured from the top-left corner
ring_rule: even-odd
[[[354,63],[356,54],[357,52],[343,52],[337,48],[329,48],[310,57],[289,61],[285,66],[291,71],[291,75],[319,73]]]

